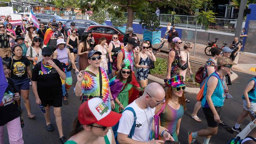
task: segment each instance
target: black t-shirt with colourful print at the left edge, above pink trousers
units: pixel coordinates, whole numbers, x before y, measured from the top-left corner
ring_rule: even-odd
[[[8,79],[8,86],[4,93],[2,102],[0,102],[0,126],[4,126],[7,122],[19,117],[18,104],[13,100],[14,93],[18,92],[11,78]]]

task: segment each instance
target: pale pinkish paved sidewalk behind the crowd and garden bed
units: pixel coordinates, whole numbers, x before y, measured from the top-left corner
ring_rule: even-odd
[[[142,34],[136,34],[136,35],[139,39],[143,39]],[[165,52],[169,52],[167,39],[164,39],[164,41],[165,41],[165,43],[164,43],[163,48],[161,50],[163,50]],[[153,44],[152,47],[153,48],[158,48],[161,45],[161,43]],[[183,50],[183,44],[182,44],[181,50]],[[209,56],[204,54],[204,48],[206,47],[206,45],[196,44],[196,46],[195,46],[196,47],[195,55],[193,55],[194,54],[194,52],[193,52],[194,44],[193,43],[192,43],[192,47],[193,47],[193,49],[191,50],[191,52],[189,52],[189,54],[190,54],[189,58],[191,60],[197,61],[199,63],[205,63],[207,61],[207,59],[210,58]],[[238,64],[236,66],[234,65],[233,68],[234,68],[234,70],[238,70],[238,71],[241,71],[241,72],[244,72],[244,73],[247,73],[247,74],[255,75],[256,72],[253,72],[251,70],[254,70],[254,68],[256,68],[256,55],[247,54],[245,52],[240,51]]]

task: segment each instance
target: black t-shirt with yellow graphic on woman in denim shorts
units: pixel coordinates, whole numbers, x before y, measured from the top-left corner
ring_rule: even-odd
[[[9,63],[8,69],[11,69],[11,78],[12,79],[25,79],[28,78],[28,73],[26,71],[26,66],[30,65],[30,61],[27,57],[22,56],[21,59],[15,60],[13,59],[13,65],[11,66],[11,59],[9,57],[7,59],[7,63]]]

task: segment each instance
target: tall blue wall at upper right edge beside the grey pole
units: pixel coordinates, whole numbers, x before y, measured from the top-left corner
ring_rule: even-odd
[[[249,4],[249,9],[251,9],[250,14],[246,15],[246,20],[245,20],[245,28],[248,30],[249,28],[249,21],[250,20],[256,20],[256,4]],[[247,31],[245,31],[245,34],[247,34]],[[243,38],[243,43],[246,42],[246,37]],[[241,48],[241,50],[243,50],[245,47],[245,44],[243,45],[243,48]]]

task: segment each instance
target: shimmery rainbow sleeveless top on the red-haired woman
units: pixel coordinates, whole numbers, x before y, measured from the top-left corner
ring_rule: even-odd
[[[161,126],[167,128],[170,134],[173,135],[175,141],[178,141],[176,134],[177,122],[184,114],[184,107],[180,105],[179,109],[173,109],[169,104],[165,105],[165,113],[161,113]]]

